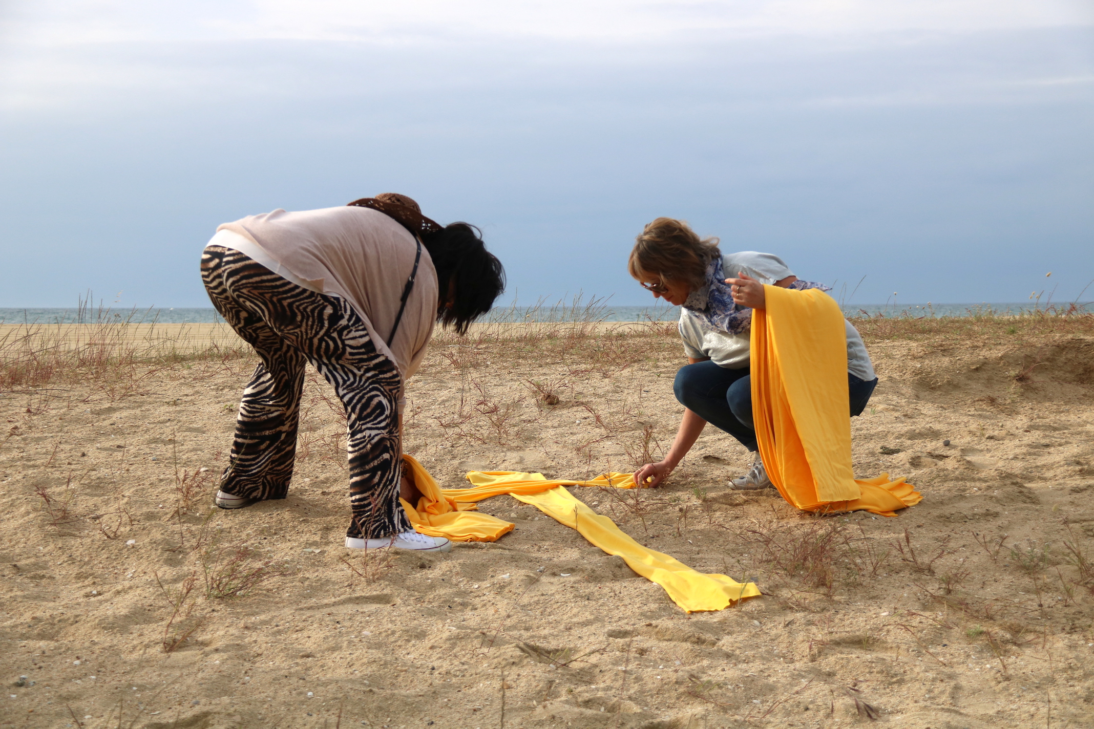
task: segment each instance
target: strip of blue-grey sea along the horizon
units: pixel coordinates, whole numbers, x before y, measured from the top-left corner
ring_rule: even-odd
[[[1094,302],[1076,303],[1084,311],[1094,310]],[[1052,308],[1066,309],[1069,305]],[[1036,310],[1046,310],[1044,304],[1033,302],[1021,303],[980,303],[980,304],[853,304],[845,305],[843,313],[848,318],[857,317],[966,317],[993,315],[1020,315]],[[536,306],[498,307],[481,320],[484,321],[674,321],[679,317],[677,306],[607,306],[591,305],[585,307],[571,306]],[[221,318],[214,308],[148,308],[148,309],[110,309],[110,308],[0,308],[0,324],[97,324],[104,321],[128,321],[133,324],[220,324]]]

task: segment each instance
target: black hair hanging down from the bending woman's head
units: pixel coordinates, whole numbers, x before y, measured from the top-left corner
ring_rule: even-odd
[[[467,333],[470,322],[489,311],[505,290],[505,269],[482,245],[481,231],[467,223],[450,223],[422,243],[437,269],[437,320]]]

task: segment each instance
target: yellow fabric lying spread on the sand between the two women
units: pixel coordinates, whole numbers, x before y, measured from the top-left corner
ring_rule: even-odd
[[[453,541],[494,541],[512,530],[513,525],[472,509],[475,502],[509,494],[577,529],[608,554],[618,554],[637,574],[663,587],[673,602],[687,612],[723,610],[737,600],[760,593],[753,583],[737,583],[725,575],[705,575],[667,554],[642,546],[612,519],[592,510],[566,490],[566,486],[633,489],[630,473],[605,473],[591,481],[548,481],[543,473],[472,471],[467,474],[474,484],[472,489],[440,489],[417,460],[410,456],[403,458],[422,492],[417,508],[406,501],[403,507],[415,529],[423,534]]]

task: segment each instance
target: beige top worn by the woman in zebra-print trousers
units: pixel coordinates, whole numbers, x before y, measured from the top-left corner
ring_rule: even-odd
[[[398,365],[404,387],[418,371],[437,320],[437,271],[422,246],[414,290],[388,348],[417,251],[414,236],[397,222],[369,208],[340,207],[275,210],[217,231],[210,245],[240,250],[298,285],[348,301],[376,350]],[[400,388],[400,410],[401,404]]]

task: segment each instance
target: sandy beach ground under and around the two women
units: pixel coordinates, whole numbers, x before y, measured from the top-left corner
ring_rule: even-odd
[[[617,331],[440,338],[408,452],[445,487],[633,468],[675,432],[683,353]],[[1094,583],[1068,546],[1094,562],[1094,340],[866,339],[854,467],[920,487],[899,517],[731,492],[750,458],[713,428],[665,489],[572,490],[765,592],[690,615],[508,496],[480,505],[516,524],[497,543],[345,550],[344,420],[314,375],[289,497],[238,512],[210,506],[252,358],[9,388],[0,726],[1094,726]]]

